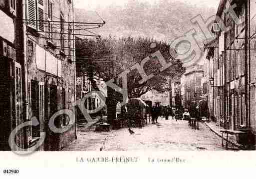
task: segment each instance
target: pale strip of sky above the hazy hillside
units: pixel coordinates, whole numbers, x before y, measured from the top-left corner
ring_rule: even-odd
[[[122,5],[125,4],[128,0],[74,0],[74,5],[76,8],[84,8],[84,9],[96,9],[98,6],[105,7],[111,4]],[[139,0],[141,2],[150,2],[154,3],[158,0]],[[183,1],[191,4],[202,4],[207,5],[209,7],[217,8],[220,0],[177,0]]]

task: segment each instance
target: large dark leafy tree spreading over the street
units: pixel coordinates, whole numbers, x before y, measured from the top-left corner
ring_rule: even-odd
[[[162,72],[160,71],[162,66],[159,60],[151,56],[158,50],[166,62],[172,64]],[[122,84],[117,77],[118,74],[131,69],[136,63],[141,64],[144,58],[149,58],[149,61],[144,65],[144,70],[147,75],[154,75],[151,79],[140,84],[139,81],[142,77],[137,69],[132,69],[127,75],[129,98],[140,97],[151,90],[159,92],[169,90],[168,78],[181,76],[185,72],[182,62],[173,56],[170,54],[168,44],[148,38],[115,39],[110,36],[95,41],[76,40],[78,75],[87,73],[94,90],[98,90],[98,88],[93,76],[98,76],[104,81],[114,79],[115,83],[120,86]],[[107,105],[108,108],[111,108],[111,111],[120,100],[122,101],[122,96],[108,88]]]

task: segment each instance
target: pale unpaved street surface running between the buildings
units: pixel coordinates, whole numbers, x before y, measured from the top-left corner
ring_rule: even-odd
[[[195,151],[224,150],[221,138],[205,124],[192,130],[187,121],[163,120],[142,129],[133,128],[111,132],[78,132],[78,139],[63,151]]]

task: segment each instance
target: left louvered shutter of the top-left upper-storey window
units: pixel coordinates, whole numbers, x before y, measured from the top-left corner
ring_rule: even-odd
[[[36,8],[35,0],[27,0],[28,26],[36,30]]]

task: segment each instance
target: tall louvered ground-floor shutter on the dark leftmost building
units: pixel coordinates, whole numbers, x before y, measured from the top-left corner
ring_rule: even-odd
[[[22,103],[22,81],[21,81],[21,66],[15,62],[15,118],[16,127],[23,123],[23,103]],[[16,145],[19,148],[24,148],[23,129],[16,133]]]

